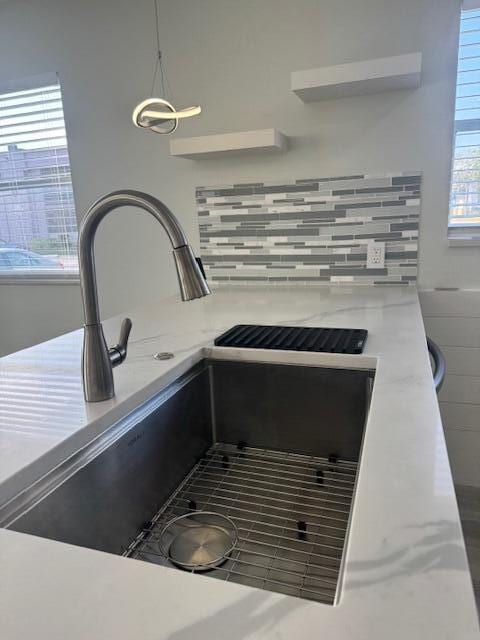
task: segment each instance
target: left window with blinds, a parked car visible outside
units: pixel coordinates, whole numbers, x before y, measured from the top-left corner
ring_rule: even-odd
[[[0,275],[78,273],[62,94],[49,74],[0,91]]]

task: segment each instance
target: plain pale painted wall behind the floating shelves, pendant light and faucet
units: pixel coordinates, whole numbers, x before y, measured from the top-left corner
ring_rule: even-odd
[[[446,243],[459,0],[159,2],[175,102],[204,109],[178,135],[275,126],[292,136],[291,150],[193,162],[170,158],[168,137],[133,127],[131,110],[149,91],[154,61],[151,0],[7,1],[0,84],[60,72],[79,217],[111,189],[144,189],[171,206],[198,246],[196,185],[420,169],[421,284],[478,286],[478,249]],[[418,50],[424,74],[414,92],[305,105],[289,90],[291,70]],[[97,244],[104,315],[175,289],[166,239],[146,214],[112,216]],[[7,336],[15,324],[2,326],[8,348],[81,324],[80,306],[67,308],[62,287],[36,298],[36,312],[51,322],[25,322],[18,343]],[[31,309],[31,289],[0,287],[0,305],[13,300]]]

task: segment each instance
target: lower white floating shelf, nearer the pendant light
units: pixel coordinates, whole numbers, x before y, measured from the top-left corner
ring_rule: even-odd
[[[285,151],[287,137],[276,129],[237,131],[195,138],[170,140],[170,155],[179,158],[209,158],[214,155],[233,155],[257,151]]]

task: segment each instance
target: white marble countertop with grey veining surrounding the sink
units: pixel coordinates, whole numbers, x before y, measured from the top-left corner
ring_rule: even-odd
[[[480,638],[413,288],[237,287],[130,315],[111,401],[83,400],[80,331],[0,360],[0,506],[186,371],[233,324],[366,328],[376,379],[340,598],[318,604],[0,529],[2,638]],[[118,318],[105,323],[108,342],[118,327]],[[159,351],[175,357],[155,360]]]

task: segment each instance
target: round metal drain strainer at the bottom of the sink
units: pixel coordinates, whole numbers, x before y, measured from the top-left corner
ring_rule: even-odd
[[[173,518],[160,533],[163,554],[188,571],[208,571],[221,566],[237,542],[234,522],[213,511],[195,511]]]

